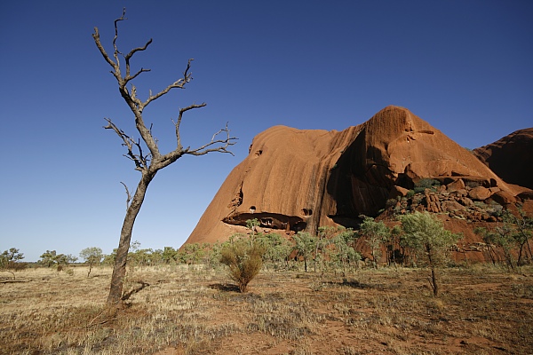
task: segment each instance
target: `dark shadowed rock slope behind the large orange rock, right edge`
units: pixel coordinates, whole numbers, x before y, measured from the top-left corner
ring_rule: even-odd
[[[507,183],[533,189],[533,128],[517,130],[473,153]]]

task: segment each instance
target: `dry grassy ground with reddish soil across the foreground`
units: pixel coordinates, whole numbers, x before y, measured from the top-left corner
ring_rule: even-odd
[[[0,284],[0,353],[533,353],[531,268],[448,269],[440,298],[424,270],[262,272],[239,294],[222,269],[137,269],[130,285],[150,286],[103,324],[111,270],[74,271],[30,269]]]

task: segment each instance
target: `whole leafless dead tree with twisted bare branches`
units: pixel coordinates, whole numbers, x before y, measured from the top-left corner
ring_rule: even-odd
[[[179,136],[179,125],[181,123],[183,114],[189,110],[206,105],[205,103],[201,105],[193,104],[185,108],[180,108],[176,122],[172,121],[176,134],[176,149],[167,154],[162,154],[159,151],[157,140],[152,136],[151,127],[147,128],[147,125],[143,120],[143,111],[148,104],[150,104],[152,101],[155,101],[155,99],[161,98],[172,89],[185,89],[185,85],[192,80],[190,67],[193,59],[188,60],[187,68],[183,73],[183,77],[179,78],[177,81],[171,83],[165,89],[155,94],[153,94],[152,91],[149,91],[149,95],[146,100],[143,101],[142,99],[139,99],[137,96],[137,89],[135,88],[135,85],[131,83],[131,81],[139,75],[149,72],[150,69],[141,67],[139,71],[132,73],[131,59],[137,52],[146,51],[148,45],[152,43],[152,39],[150,39],[142,47],[134,48],[125,55],[119,51],[116,46],[116,39],[118,38],[117,24],[122,20],[126,20],[124,15],[125,9],[123,10],[122,16],[115,20],[115,37],[113,39],[113,52],[111,56],[104,49],[102,43],[100,43],[98,28],[94,28],[94,33],[92,34],[94,43],[96,43],[100,53],[107,61],[107,64],[112,67],[111,74],[115,76],[116,82],[118,83],[118,90],[120,91],[120,94],[128,107],[131,109],[131,113],[133,114],[135,120],[135,127],[140,135],[140,139],[136,140],[118,128],[115,123],[111,121],[111,119],[105,119],[107,121],[107,125],[104,128],[115,131],[116,135],[122,139],[122,145],[127,148],[127,153],[124,154],[124,156],[129,158],[135,164],[135,170],[138,170],[141,174],[139,184],[137,185],[137,189],[135,190],[133,196],[130,195],[126,188],[129,203],[127,205],[126,216],[123,220],[120,241],[116,250],[115,266],[113,268],[109,296],[107,297],[107,306],[110,309],[114,309],[115,312],[120,308],[121,299],[123,297],[123,279],[126,272],[126,262],[128,250],[130,248],[133,224],[135,223],[135,218],[139,214],[139,209],[144,201],[147,193],[147,187],[154,179],[157,171],[171,165],[172,162],[176,162],[185,154],[204,155],[211,152],[232,154],[228,150],[228,147],[235,145],[236,139],[235,137],[230,137],[226,124],[225,128],[219,130],[212,136],[209,143],[195,149],[191,149],[190,146],[184,148],[181,145],[181,138]],[[143,150],[143,147],[145,147],[145,150]]]

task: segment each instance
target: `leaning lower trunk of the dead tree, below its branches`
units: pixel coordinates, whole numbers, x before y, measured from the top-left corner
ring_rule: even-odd
[[[120,241],[116,249],[115,265],[113,267],[113,275],[111,276],[111,287],[109,288],[109,296],[107,296],[107,306],[115,310],[120,308],[122,301],[123,280],[126,274],[128,251],[130,250],[131,233],[133,232],[135,218],[139,214],[140,207],[147,193],[147,187],[154,177],[155,174],[153,176],[143,174],[124,217]]]

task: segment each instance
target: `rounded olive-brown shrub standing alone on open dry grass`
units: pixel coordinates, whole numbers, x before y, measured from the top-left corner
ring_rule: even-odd
[[[236,235],[222,245],[220,263],[228,267],[228,275],[241,292],[246,292],[248,284],[263,266],[265,247],[253,238]]]

